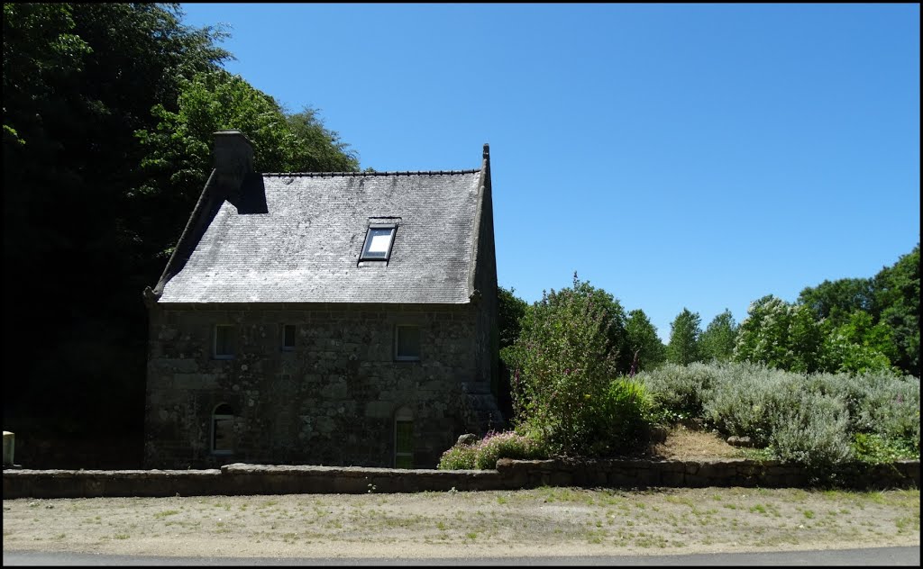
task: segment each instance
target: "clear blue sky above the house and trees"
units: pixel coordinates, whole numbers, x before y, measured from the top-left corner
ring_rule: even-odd
[[[581,279],[665,341],[919,242],[920,8],[183,4],[378,171],[478,168],[499,284]]]

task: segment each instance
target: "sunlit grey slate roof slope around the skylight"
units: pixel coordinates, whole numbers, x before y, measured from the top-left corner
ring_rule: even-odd
[[[255,177],[265,213],[223,201],[158,303],[469,302],[481,170]],[[386,217],[390,261],[359,266]]]

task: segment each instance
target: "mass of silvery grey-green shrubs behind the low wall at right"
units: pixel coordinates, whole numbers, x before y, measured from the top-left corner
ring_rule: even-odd
[[[658,402],[721,433],[749,436],[777,459],[816,470],[856,457],[919,455],[919,379],[888,371],[793,373],[762,363],[666,365],[637,376]],[[859,436],[857,436],[859,435]]]

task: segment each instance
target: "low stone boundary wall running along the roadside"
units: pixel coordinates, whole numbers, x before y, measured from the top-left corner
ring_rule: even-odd
[[[841,468],[837,480],[860,489],[919,488],[918,460]],[[809,487],[797,466],[749,459],[511,460],[494,470],[267,466],[235,463],[208,470],[30,470],[6,468],[3,497],[196,496],[292,493],[394,493],[588,488]]]

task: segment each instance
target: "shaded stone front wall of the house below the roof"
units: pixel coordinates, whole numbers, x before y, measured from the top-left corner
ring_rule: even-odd
[[[477,320],[472,305],[154,305],[145,467],[391,467],[403,408],[414,467],[435,468],[460,434],[485,429]],[[213,357],[216,324],[234,326],[233,359]],[[282,350],[283,325],[296,326],[294,350]],[[397,325],[420,326],[419,362],[395,361]],[[222,404],[234,411],[230,455],[211,447]]]

